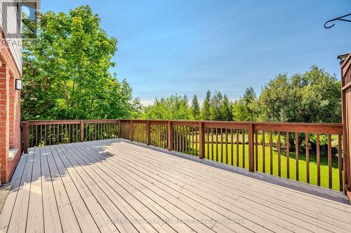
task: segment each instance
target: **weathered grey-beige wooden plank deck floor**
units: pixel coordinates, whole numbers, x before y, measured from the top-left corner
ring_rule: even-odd
[[[122,139],[30,148],[1,232],[350,232],[341,192]]]

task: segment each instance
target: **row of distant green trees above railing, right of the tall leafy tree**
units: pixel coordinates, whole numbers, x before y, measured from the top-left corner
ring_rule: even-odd
[[[278,74],[257,95],[253,87],[230,100],[226,94],[208,90],[203,103],[174,94],[155,99],[141,114],[145,119],[234,120],[270,122],[340,122],[340,81],[312,66],[305,73]]]

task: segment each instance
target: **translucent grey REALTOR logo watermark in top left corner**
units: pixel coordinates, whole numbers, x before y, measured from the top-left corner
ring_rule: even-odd
[[[1,45],[6,43],[8,46],[22,46],[25,41],[33,42],[37,38],[37,30],[32,27],[37,24],[37,4],[36,0],[1,1],[1,30],[5,36],[5,41],[1,41]],[[27,38],[30,40],[26,40]]]

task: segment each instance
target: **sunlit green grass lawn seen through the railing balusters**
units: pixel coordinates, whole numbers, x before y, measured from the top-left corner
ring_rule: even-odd
[[[199,150],[199,143],[196,146],[194,143],[194,148]],[[209,153],[208,153],[209,148]],[[195,155],[199,156],[199,151],[195,149]],[[218,157],[216,160],[218,150]],[[245,168],[249,168],[249,145],[245,144]],[[294,149],[293,149],[294,150]],[[214,160],[218,162],[223,162],[225,164],[237,164],[237,145],[233,145],[233,160],[231,157],[232,146],[227,145],[227,153],[225,150],[225,144],[223,144],[223,157],[221,157],[222,146],[218,143],[218,148],[216,144],[213,143],[213,155],[212,155],[212,145],[205,144],[205,158],[209,160]],[[190,143],[190,153],[192,154],[192,143]],[[256,153],[256,149],[255,149]],[[239,167],[243,167],[243,155],[242,155],[242,144],[239,144]],[[227,155],[227,156],[226,156]],[[278,176],[278,151],[277,148],[273,148],[272,151],[272,163],[273,163],[273,175]],[[256,155],[255,155],[256,157]],[[255,158],[256,159],[256,158]],[[321,156],[321,186],[329,187],[329,170],[328,170],[328,158]],[[255,163],[256,164],[256,163]],[[281,150],[281,176],[286,178],[286,150],[285,148]],[[305,153],[299,152],[299,181],[306,182],[306,157]],[[290,179],[296,180],[296,156],[295,150],[289,153],[289,167],[290,167]],[[263,146],[258,146],[258,171],[263,171]],[[333,190],[339,190],[339,169],[338,169],[338,158],[332,157],[332,181]],[[265,146],[265,173],[270,174],[270,147]],[[310,183],[317,185],[317,156],[310,152]]]

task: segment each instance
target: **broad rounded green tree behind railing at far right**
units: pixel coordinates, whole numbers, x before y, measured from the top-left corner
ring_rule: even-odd
[[[340,81],[318,66],[288,78],[279,74],[260,95],[262,120],[341,122]]]

